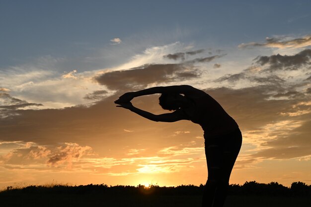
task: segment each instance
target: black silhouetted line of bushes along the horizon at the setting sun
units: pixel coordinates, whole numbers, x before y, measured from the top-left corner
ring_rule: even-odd
[[[2,196],[7,194],[105,194],[105,195],[202,195],[204,185],[181,185],[177,187],[160,187],[151,185],[146,187],[144,185],[138,186],[110,186],[105,184],[89,184],[79,186],[27,186],[24,188],[13,188],[8,186],[6,190],[1,191]],[[277,182],[269,184],[257,183],[256,181],[245,182],[243,185],[231,184],[229,186],[228,195],[239,196],[291,196],[291,197],[311,197],[311,185],[306,185],[303,182],[294,182],[291,187],[285,187]]]

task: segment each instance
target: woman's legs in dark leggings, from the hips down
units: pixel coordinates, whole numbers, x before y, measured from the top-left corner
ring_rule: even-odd
[[[241,142],[242,136],[239,131],[224,137],[206,139],[208,180],[204,188],[202,207],[223,207],[230,174]]]

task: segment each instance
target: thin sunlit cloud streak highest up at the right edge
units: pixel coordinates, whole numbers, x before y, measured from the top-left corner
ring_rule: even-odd
[[[251,47],[272,47],[272,48],[303,48],[311,46],[311,35],[306,35],[301,38],[289,39],[285,37],[266,38],[266,43],[242,43],[239,48]]]

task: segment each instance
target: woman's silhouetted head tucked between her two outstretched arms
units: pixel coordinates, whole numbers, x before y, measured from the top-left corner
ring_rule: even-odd
[[[165,110],[177,110],[181,107],[184,96],[178,93],[162,93],[159,97],[159,105]]]

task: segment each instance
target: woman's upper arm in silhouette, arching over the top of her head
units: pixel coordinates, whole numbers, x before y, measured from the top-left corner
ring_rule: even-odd
[[[150,95],[155,93],[179,93],[179,94],[202,94],[204,93],[202,90],[194,88],[190,85],[172,85],[172,86],[156,86],[152,88],[147,88],[144,90],[136,91],[136,92],[128,92],[120,96],[115,103],[129,102],[133,98],[138,96]]]

